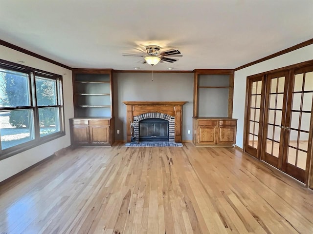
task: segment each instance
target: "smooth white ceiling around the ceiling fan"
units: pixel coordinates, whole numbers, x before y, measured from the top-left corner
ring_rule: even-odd
[[[123,53],[183,57],[154,70],[236,68],[313,38],[313,0],[0,0],[0,39],[73,68],[151,70]]]

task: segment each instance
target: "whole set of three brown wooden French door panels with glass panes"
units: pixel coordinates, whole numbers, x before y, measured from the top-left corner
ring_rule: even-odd
[[[249,78],[245,151],[307,184],[312,105],[313,66]]]

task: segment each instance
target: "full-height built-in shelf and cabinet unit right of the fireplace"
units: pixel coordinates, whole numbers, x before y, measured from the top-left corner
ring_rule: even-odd
[[[234,71],[198,69],[194,74],[194,144],[235,144],[237,119],[232,118]]]

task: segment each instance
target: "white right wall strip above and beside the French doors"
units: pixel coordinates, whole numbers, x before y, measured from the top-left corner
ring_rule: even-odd
[[[236,145],[243,147],[246,77],[313,59],[313,44],[235,72],[233,117],[238,118]]]

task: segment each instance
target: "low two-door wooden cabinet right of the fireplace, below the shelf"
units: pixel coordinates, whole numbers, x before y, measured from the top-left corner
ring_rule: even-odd
[[[232,146],[236,143],[237,119],[194,117],[193,143],[196,146]]]

